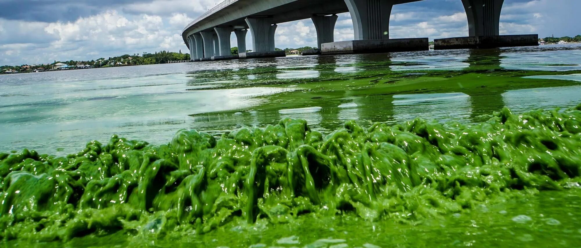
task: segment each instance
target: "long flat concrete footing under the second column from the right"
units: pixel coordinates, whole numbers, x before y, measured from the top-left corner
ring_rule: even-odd
[[[428,38],[408,39],[365,39],[358,41],[338,41],[321,44],[321,53],[385,53],[428,50]]]

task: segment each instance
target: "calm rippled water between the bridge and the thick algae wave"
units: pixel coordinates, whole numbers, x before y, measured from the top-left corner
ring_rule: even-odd
[[[575,105],[581,89],[571,85],[581,71],[557,71],[579,64],[579,47],[555,46],[0,75],[0,130],[10,134],[0,136],[0,151],[70,153],[112,134],[166,143],[182,128],[218,136],[287,116],[323,132],[348,119],[364,126],[417,116],[480,122],[504,106]],[[537,71],[523,71],[530,68]]]

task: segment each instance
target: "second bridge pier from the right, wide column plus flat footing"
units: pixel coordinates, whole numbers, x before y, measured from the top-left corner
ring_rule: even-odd
[[[417,0],[345,0],[353,20],[354,41],[321,44],[322,54],[428,50],[428,38],[389,39],[389,16],[396,3]]]

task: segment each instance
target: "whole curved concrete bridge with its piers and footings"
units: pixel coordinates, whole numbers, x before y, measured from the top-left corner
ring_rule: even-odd
[[[317,30],[315,53],[349,54],[428,50],[428,38],[390,39],[389,17],[393,5],[423,0],[225,0],[182,31],[190,57],[198,60],[282,57],[275,51],[277,23],[313,20]],[[468,36],[436,39],[434,49],[495,48],[537,45],[538,35],[499,35],[504,0],[462,1],[467,14]],[[338,13],[353,19],[354,41],[335,42]],[[246,34],[252,35],[253,52],[246,53]],[[230,36],[238,41],[238,56],[231,55]]]

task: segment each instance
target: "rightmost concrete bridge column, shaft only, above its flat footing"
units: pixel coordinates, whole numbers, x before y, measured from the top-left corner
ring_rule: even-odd
[[[468,17],[468,36],[498,35],[504,0],[462,0]]]

